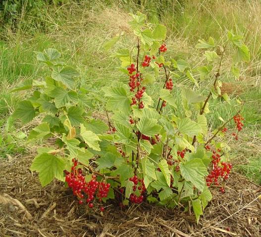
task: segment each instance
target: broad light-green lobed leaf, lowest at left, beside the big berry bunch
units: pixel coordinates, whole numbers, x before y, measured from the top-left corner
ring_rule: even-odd
[[[65,161],[48,153],[43,153],[34,158],[30,170],[39,172],[42,186],[51,183],[54,178],[64,181],[63,170]]]

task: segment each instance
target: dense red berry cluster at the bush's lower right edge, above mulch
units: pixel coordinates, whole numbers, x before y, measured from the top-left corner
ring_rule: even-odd
[[[220,149],[217,150],[217,152],[221,152]],[[219,185],[218,178],[222,177],[223,180],[227,180],[229,177],[229,173],[232,169],[231,163],[221,162],[220,166],[220,155],[216,151],[212,151],[212,164],[213,169],[211,170],[210,174],[206,178],[207,186],[210,186],[212,183],[215,186]],[[224,193],[224,188],[220,188],[220,192]]]

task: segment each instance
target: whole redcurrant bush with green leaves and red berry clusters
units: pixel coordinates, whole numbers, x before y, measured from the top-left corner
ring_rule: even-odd
[[[195,68],[170,55],[164,25],[151,24],[138,13],[132,15],[130,28],[132,34],[105,44],[108,49],[124,37],[135,42],[113,52],[126,80],[110,82],[99,94],[86,89],[89,85],[80,82],[77,70],[61,62],[57,50],[37,52],[37,59],[51,68],[50,76],[44,82],[27,83],[26,89],[34,92],[18,103],[12,116],[22,124],[38,116],[42,122],[28,139],[52,138],[55,143],[38,149],[31,170],[39,173],[43,186],[54,178],[65,182],[78,203],[94,211],[104,212],[108,199],[122,208],[144,201],[168,208],[190,205],[199,221],[212,198],[209,187],[225,192],[232,164],[223,138],[230,134],[231,121],[236,140],[243,128],[239,104],[231,118],[210,131],[209,104],[220,96],[222,103],[229,102],[220,91],[227,77],[221,68],[227,49],[235,53],[234,68],[249,60],[249,50],[231,32],[223,45],[211,37],[200,40],[196,52],[204,51],[205,56]],[[223,51],[217,54],[219,48]],[[182,84],[185,78],[189,85]],[[206,94],[195,89],[199,84],[206,86]],[[22,85],[14,91],[24,89]],[[106,121],[91,117],[97,104],[104,108]]]

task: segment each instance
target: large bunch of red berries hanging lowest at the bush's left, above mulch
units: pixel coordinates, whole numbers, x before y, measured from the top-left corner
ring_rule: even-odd
[[[79,198],[79,204],[83,204],[84,194],[86,194],[86,202],[90,208],[93,208],[94,205],[92,201],[95,199],[95,194],[99,201],[102,201],[103,197],[107,197],[110,184],[98,182],[96,180],[96,175],[94,174],[92,175],[92,179],[89,182],[86,182],[82,169],[77,169],[78,161],[73,158],[72,162],[73,166],[71,167],[71,172],[68,172],[67,170],[64,171],[66,175],[65,181],[72,189],[73,195]],[[97,190],[98,192],[96,192]],[[101,207],[101,211],[102,209],[104,210],[104,208]]]

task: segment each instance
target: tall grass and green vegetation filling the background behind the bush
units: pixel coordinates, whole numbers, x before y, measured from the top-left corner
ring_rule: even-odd
[[[234,113],[240,97],[244,103],[244,135],[241,147],[232,149],[237,170],[261,183],[261,2],[259,0],[3,0],[0,3],[0,157],[26,153],[28,127],[16,130],[8,116],[23,93],[10,90],[27,79],[41,79],[47,73],[36,62],[34,51],[53,47],[81,72],[94,93],[111,81],[126,80],[118,72],[117,61],[109,58],[103,43],[117,33],[128,33],[128,12],[141,11],[152,22],[168,28],[168,54],[197,66],[202,52],[195,49],[199,39],[223,40],[226,31],[244,35],[251,51],[251,62],[238,78],[222,77],[222,92],[231,96],[231,108],[219,103],[209,126],[216,127]],[[131,42],[120,41],[118,47]],[[115,48],[117,50],[117,47]],[[223,68],[230,71],[231,62]],[[199,77],[195,72],[195,77]],[[182,79],[182,83],[190,83]],[[181,81],[176,81],[177,86]],[[210,83],[210,81],[206,81]],[[157,90],[158,82],[153,90]],[[203,90],[202,86],[200,90]],[[207,91],[206,91],[207,92]],[[178,98],[179,94],[173,89]],[[102,108],[98,112],[103,112]],[[18,126],[17,126],[18,127]],[[230,138],[228,138],[230,139]]]

